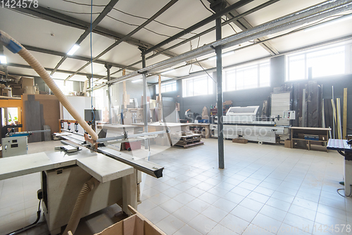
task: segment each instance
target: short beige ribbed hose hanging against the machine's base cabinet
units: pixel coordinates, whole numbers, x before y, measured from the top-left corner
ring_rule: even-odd
[[[98,184],[99,184],[99,181],[96,180],[94,177],[92,177],[92,179],[89,179],[89,181],[84,183],[80,191],[80,194],[78,194],[75,207],[73,208],[73,212],[71,214],[70,220],[68,221],[65,231],[63,231],[63,235],[68,235],[68,231],[71,231],[72,234],[75,234],[78,223],[80,222],[80,219],[82,217],[82,212],[84,209],[84,205],[87,201],[87,196],[89,192],[94,189],[95,186],[98,186]]]

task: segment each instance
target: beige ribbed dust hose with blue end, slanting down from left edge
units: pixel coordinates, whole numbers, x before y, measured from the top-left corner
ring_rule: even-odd
[[[27,63],[37,72],[37,74],[42,77],[44,82],[48,85],[51,91],[54,92],[55,96],[58,100],[63,104],[63,106],[68,110],[68,113],[75,118],[75,120],[80,123],[81,127],[92,136],[92,139],[96,141],[98,139],[98,135],[94,130],[89,127],[87,122],[77,113],[75,108],[70,104],[66,96],[63,94],[61,89],[58,88],[54,80],[50,77],[48,72],[44,69],[44,67],[37,61],[32,54],[25,49],[20,43],[15,41],[10,35],[6,34],[6,32],[0,30],[0,42],[6,46],[7,49],[12,51],[13,53],[18,53]]]

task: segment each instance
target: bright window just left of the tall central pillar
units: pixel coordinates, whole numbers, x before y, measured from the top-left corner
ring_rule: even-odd
[[[213,80],[207,76],[191,77],[182,80],[182,96],[201,96],[213,94]]]

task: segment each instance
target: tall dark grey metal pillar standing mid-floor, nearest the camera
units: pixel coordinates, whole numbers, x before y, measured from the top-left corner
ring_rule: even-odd
[[[221,18],[215,20],[216,23],[216,40],[221,39]],[[224,125],[222,123],[222,46],[215,47],[216,53],[216,82],[218,91],[218,155],[219,168],[225,168],[224,160]]]

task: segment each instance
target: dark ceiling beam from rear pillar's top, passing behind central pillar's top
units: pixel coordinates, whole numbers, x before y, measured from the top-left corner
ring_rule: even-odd
[[[240,0],[240,1],[237,1],[237,3],[232,4],[231,6],[219,11],[218,13],[210,15],[209,17],[205,18],[204,20],[199,21],[199,23],[191,25],[187,29],[182,30],[181,32],[173,35],[172,37],[169,37],[168,39],[165,39],[163,42],[160,42],[160,43],[156,44],[155,46],[151,47],[150,49],[147,49],[146,51],[142,52],[142,54],[146,55],[147,53],[150,53],[151,51],[159,49],[159,48],[161,48],[161,46],[164,46],[165,44],[168,44],[168,43],[170,43],[170,42],[172,42],[172,41],[184,36],[184,34],[188,34],[189,32],[192,32],[193,30],[196,30],[199,27],[202,27],[203,25],[206,25],[206,24],[212,22],[213,20],[215,20],[217,18],[220,18],[222,15],[225,15],[225,14],[229,13],[230,11],[232,11],[234,9],[237,9],[237,8],[240,8],[241,6],[249,4],[251,1],[254,1],[254,0]]]

